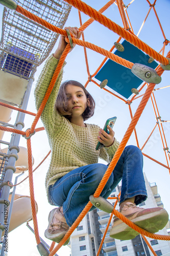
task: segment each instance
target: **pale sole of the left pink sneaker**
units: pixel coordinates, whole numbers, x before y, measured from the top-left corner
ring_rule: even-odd
[[[48,227],[50,227],[50,225],[51,225],[51,223],[52,223],[55,210],[56,210],[56,209],[53,209],[53,210],[50,212],[49,216],[48,216],[48,222],[49,222],[49,223],[48,223]],[[63,237],[65,236],[65,234],[67,233],[67,231],[62,231],[62,232],[59,233],[59,234],[51,234],[51,233],[48,232],[48,227],[47,227],[47,229],[46,229],[45,232],[44,232],[44,236],[45,236],[47,239],[50,239],[50,240],[52,240],[52,241],[54,241],[54,242],[56,242],[56,243],[59,243],[59,242],[63,239]],[[70,240],[70,238],[68,238],[67,241],[66,241],[63,245],[67,245],[67,244],[69,243],[69,240]]]

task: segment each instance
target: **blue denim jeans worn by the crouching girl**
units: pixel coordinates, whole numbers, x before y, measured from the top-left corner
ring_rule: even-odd
[[[139,148],[133,145],[126,146],[101,196],[107,199],[122,180],[120,203],[132,197],[135,197],[136,204],[145,201],[147,190],[142,167],[143,156]],[[107,168],[107,165],[100,163],[85,165],[71,170],[49,187],[53,203],[63,206],[64,217],[69,226],[75,222],[89,202],[89,196],[94,194]],[[92,206],[90,210],[94,208]]]

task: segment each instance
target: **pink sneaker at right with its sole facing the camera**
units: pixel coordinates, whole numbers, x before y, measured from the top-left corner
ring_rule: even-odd
[[[144,209],[137,207],[134,203],[127,202],[120,212],[139,227],[156,233],[162,229],[167,221],[167,211],[160,208]],[[113,218],[112,229],[110,230],[110,237],[119,240],[131,240],[139,233],[125,224],[116,216]]]

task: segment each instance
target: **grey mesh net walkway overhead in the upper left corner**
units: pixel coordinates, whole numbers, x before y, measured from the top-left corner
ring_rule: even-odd
[[[18,5],[62,28],[71,7],[63,1],[19,1]],[[52,51],[59,34],[4,8],[0,63],[2,70],[28,78]]]

